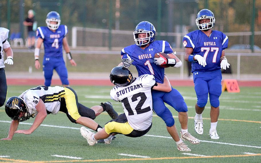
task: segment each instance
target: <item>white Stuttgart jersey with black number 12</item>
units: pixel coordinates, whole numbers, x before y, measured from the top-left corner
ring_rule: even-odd
[[[155,85],[153,75],[141,75],[126,87],[115,86],[110,96],[122,102],[129,125],[139,131],[146,130],[152,123],[151,87]]]

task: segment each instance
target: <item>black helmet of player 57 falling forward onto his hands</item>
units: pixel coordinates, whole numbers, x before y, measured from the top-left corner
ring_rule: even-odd
[[[26,121],[30,118],[30,113],[24,100],[17,96],[8,98],[5,103],[5,112],[11,119],[19,122]],[[20,112],[23,114],[21,117]]]

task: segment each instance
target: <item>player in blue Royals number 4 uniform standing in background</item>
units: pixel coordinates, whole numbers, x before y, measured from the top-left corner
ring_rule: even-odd
[[[44,43],[43,73],[44,85],[50,86],[53,70],[58,73],[63,86],[68,86],[68,73],[63,60],[63,48],[67,53],[72,66],[76,66],[72,59],[66,35],[68,33],[67,26],[60,25],[61,18],[59,13],[51,11],[46,16],[47,27],[38,27],[36,31],[37,44],[34,50],[35,68],[40,68],[39,55],[42,42]],[[62,48],[63,46],[63,48]]]

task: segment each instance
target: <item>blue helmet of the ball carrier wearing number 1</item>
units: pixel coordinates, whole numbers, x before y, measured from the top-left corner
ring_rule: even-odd
[[[146,33],[147,37],[146,38],[139,38],[138,34],[140,33]],[[151,42],[153,42],[155,40],[155,34],[156,34],[156,29],[153,26],[153,24],[151,24],[150,22],[147,21],[143,21],[140,22],[134,32],[133,32],[133,36],[134,36],[134,41],[136,43],[136,45],[140,46],[140,47],[145,47],[147,44],[150,44]]]

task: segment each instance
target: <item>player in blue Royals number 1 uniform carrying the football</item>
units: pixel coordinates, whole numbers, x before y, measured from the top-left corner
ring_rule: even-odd
[[[134,65],[138,71],[138,75],[151,74],[155,76],[157,83],[163,83],[164,68],[159,65],[168,65],[171,67],[180,67],[182,62],[176,57],[167,41],[155,40],[156,29],[150,22],[140,22],[133,32],[135,44],[122,49],[121,57],[122,65],[129,67]],[[168,54],[170,59],[163,56],[154,58],[154,55],[162,52]],[[167,131],[172,138],[179,144],[180,139],[172,113],[165,106],[164,102],[178,111],[178,117],[181,124],[181,138],[190,141],[192,144],[198,144],[200,141],[188,133],[188,108],[184,102],[184,98],[178,90],[172,88],[171,92],[162,92],[152,90],[153,110],[163,119],[167,126]],[[181,150],[178,148],[178,150]],[[190,150],[190,149],[189,149]]]

